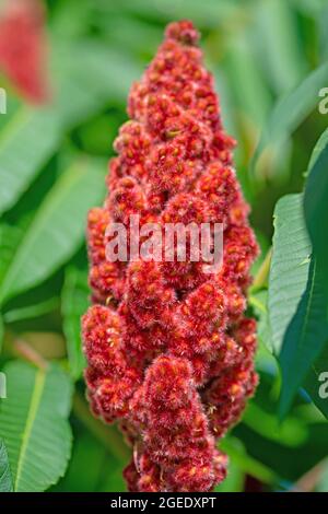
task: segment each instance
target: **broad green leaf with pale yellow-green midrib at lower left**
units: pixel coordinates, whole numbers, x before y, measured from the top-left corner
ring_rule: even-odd
[[[0,434],[15,492],[40,492],[63,476],[71,452],[68,417],[72,386],[58,366],[20,361],[4,367],[8,398],[0,404]]]

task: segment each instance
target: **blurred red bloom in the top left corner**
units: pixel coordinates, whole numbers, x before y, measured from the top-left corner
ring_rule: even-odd
[[[49,96],[47,39],[39,0],[7,0],[0,10],[0,72],[31,102]]]

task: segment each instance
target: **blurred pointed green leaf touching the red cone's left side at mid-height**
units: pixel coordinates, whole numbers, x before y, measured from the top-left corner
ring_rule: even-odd
[[[39,284],[77,250],[86,213],[104,195],[103,162],[80,160],[43,200],[5,273],[0,300]]]

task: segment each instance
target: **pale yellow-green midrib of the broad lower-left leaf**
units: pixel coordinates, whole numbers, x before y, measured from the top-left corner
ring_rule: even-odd
[[[14,483],[14,490],[17,491],[19,489],[19,483],[21,480],[22,471],[23,471],[23,466],[24,466],[24,460],[28,447],[28,442],[32,435],[33,431],[33,425],[36,419],[36,414],[38,411],[38,407],[42,400],[44,387],[45,387],[45,382],[46,382],[46,373],[44,370],[38,370],[36,375],[35,375],[35,381],[34,381],[34,386],[33,386],[33,392],[32,392],[32,397],[31,397],[31,404],[30,404],[30,409],[26,418],[26,424],[23,430],[23,439],[22,439],[22,446],[19,455],[19,460],[17,460],[17,470],[16,470],[16,477],[15,477],[15,483]]]

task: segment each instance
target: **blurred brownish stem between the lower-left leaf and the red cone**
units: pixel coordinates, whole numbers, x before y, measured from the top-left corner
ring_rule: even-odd
[[[73,413],[103,446],[119,460],[128,462],[130,452],[116,427],[104,425],[90,413],[86,401],[79,393],[74,394]]]

